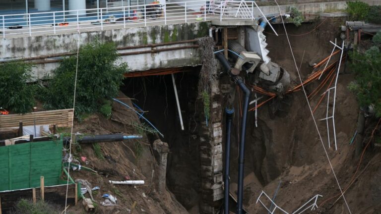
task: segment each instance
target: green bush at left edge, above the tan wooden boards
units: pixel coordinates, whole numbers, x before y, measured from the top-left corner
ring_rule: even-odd
[[[37,86],[28,84],[32,66],[23,62],[0,64],[0,107],[11,113],[27,113],[35,105]]]

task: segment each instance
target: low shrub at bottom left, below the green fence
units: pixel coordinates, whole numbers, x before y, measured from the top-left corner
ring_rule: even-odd
[[[21,199],[17,202],[11,214],[59,214],[62,209],[57,206],[44,201],[38,201],[36,204],[33,202]]]

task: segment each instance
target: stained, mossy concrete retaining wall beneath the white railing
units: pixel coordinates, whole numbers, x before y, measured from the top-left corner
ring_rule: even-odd
[[[127,47],[191,40],[208,35],[208,28],[209,22],[196,22],[84,32],[79,35],[78,33],[73,33],[9,38],[3,39],[0,42],[0,60],[76,52],[78,36],[80,44],[86,44],[98,39],[100,41],[113,41],[117,47]],[[193,43],[162,46],[159,48],[187,45],[193,45]],[[121,53],[147,50],[151,50],[151,48],[129,49],[121,51]],[[122,57],[122,61],[127,62],[132,71],[188,65],[195,66],[200,64],[198,51],[194,48],[166,51],[156,54],[127,55]],[[33,68],[32,76],[38,79],[49,77],[57,65],[58,63],[37,64]]]

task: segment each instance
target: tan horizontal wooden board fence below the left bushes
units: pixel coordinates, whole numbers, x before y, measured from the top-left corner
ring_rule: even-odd
[[[72,118],[72,108],[37,111],[26,114],[0,115],[0,128],[18,127],[19,121],[22,121],[24,126],[57,124],[61,127],[67,127],[71,125]]]

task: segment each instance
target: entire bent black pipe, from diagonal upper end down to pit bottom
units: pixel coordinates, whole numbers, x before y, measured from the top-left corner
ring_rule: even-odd
[[[234,75],[232,68],[228,60],[221,53],[216,54],[217,59],[221,62],[225,68],[225,72],[234,80],[234,82],[241,88],[245,94],[245,102],[243,107],[242,123],[241,123],[241,138],[240,138],[240,151],[239,151],[239,165],[238,165],[238,192],[237,192],[237,214],[243,214],[243,195],[244,195],[244,165],[245,165],[245,141],[246,141],[246,124],[248,117],[250,90],[246,87],[242,78],[238,75]],[[226,170],[225,164],[225,170]],[[226,186],[225,186],[226,188]],[[225,199],[226,200],[226,199]]]

